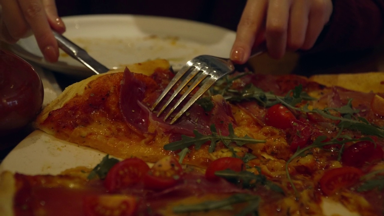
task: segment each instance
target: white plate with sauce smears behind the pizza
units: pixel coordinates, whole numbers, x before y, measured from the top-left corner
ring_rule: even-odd
[[[86,15],[63,17],[63,22],[67,28],[64,36],[108,68],[165,58],[177,70],[197,55],[228,58],[235,40],[235,32],[228,29],[166,17]],[[61,50],[57,63],[45,61],[33,36],[10,49],[50,70],[75,76],[93,74]]]

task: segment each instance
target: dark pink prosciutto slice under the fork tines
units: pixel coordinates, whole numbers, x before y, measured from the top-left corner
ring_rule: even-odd
[[[228,125],[235,126],[235,121],[230,105],[222,95],[211,98],[214,106],[210,111],[205,111],[200,105],[194,104],[187,111],[187,115],[183,115],[173,125],[169,125],[170,118],[166,121],[163,120],[167,110],[159,117],[156,116],[156,113],[152,113],[149,108],[164,89],[163,85],[166,85],[166,83],[159,84],[154,80],[159,77],[157,73],[164,73],[164,71],[155,71],[152,76],[132,73],[128,68],[124,71],[119,104],[124,120],[132,130],[141,134],[163,131],[172,135],[194,136],[194,130],[202,134],[210,134],[210,126],[214,124],[222,135],[229,134]],[[162,104],[159,105],[159,107],[161,106]],[[172,106],[171,103],[169,107]]]

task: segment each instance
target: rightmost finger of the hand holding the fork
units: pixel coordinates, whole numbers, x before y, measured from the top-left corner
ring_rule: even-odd
[[[332,13],[330,1],[316,0],[311,6],[308,19],[308,28],[302,49],[309,50],[316,43],[324,25],[329,21]]]

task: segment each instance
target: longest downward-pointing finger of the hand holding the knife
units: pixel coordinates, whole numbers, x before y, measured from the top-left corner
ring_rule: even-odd
[[[19,4],[44,58],[50,62],[57,61],[59,58],[59,48],[48,23],[43,3],[40,0],[20,0]]]

